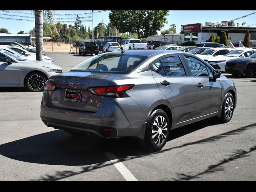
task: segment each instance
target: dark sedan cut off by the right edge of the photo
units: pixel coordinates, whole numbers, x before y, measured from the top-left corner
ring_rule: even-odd
[[[225,72],[234,76],[245,75],[247,78],[256,78],[256,53],[249,57],[228,60]]]

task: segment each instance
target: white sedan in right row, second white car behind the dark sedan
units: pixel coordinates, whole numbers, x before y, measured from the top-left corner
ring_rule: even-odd
[[[196,54],[196,56],[198,56],[202,60],[206,60],[208,58],[212,58],[215,56],[226,55],[234,50],[235,50],[234,48],[225,48],[225,47],[210,48],[200,54]]]

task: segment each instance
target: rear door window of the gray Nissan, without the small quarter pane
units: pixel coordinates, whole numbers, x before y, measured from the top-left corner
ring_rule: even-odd
[[[186,76],[184,67],[178,56],[161,59],[166,76],[181,77]]]

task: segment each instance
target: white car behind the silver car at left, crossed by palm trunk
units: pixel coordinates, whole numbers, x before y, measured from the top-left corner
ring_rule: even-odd
[[[18,46],[6,46],[0,45],[0,48],[11,52],[12,54],[18,55],[20,58],[28,59],[28,60],[36,60],[36,54],[31,53],[28,50],[20,48]],[[43,61],[54,64],[54,60],[48,56],[43,55]]]

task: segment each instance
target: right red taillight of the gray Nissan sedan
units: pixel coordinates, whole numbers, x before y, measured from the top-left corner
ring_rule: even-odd
[[[108,96],[108,97],[128,97],[127,90],[134,87],[134,84],[118,85],[118,86],[104,86],[104,87],[92,87],[88,91],[94,95]]]

